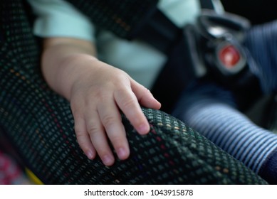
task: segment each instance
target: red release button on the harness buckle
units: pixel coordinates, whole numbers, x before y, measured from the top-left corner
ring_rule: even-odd
[[[226,45],[219,50],[219,59],[226,68],[234,68],[239,63],[240,58],[241,55],[234,45]]]

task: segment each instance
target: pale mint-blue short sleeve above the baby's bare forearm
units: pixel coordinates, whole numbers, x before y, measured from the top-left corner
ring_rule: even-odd
[[[95,41],[95,27],[63,0],[28,0],[37,18],[33,33],[39,37],[70,37]]]

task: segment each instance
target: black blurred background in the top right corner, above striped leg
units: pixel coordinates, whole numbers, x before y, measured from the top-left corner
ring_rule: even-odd
[[[276,0],[221,0],[226,11],[248,18],[252,24],[277,19]]]

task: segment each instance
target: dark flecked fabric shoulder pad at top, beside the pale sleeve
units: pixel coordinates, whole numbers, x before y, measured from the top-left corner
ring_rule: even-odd
[[[133,38],[137,28],[147,22],[155,11],[158,0],[67,1],[89,16],[98,27],[108,29],[122,38]]]

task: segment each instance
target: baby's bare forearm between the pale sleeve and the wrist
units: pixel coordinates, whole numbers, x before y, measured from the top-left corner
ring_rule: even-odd
[[[43,76],[53,90],[69,100],[73,82],[85,72],[82,63],[96,60],[95,48],[89,41],[73,38],[47,38],[43,47]]]

